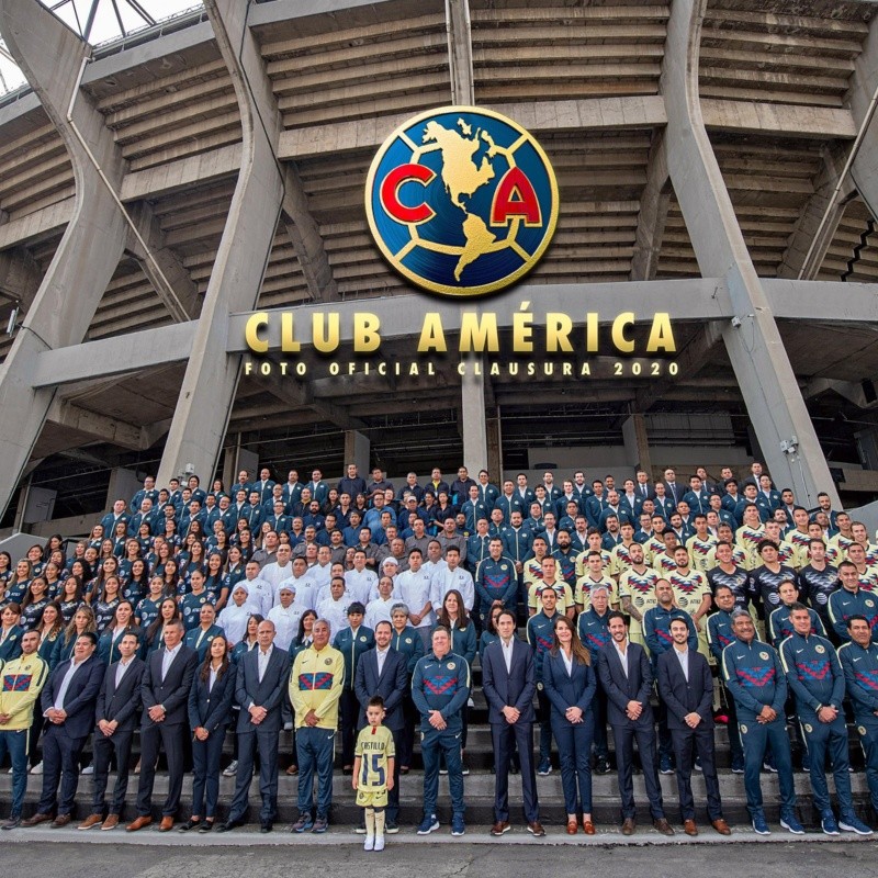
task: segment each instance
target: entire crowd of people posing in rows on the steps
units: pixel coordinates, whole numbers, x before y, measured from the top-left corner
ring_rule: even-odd
[[[700,770],[709,821],[728,835],[718,722],[755,832],[770,831],[763,770],[778,775],[781,826],[803,832],[795,756],[810,772],[822,831],[867,835],[847,725],[878,809],[876,601],[867,528],[825,494],[803,507],[758,463],[740,483],[728,468],[716,479],[699,468],[685,483],[673,469],[657,481],[638,471],[621,485],[609,475],[586,484],[576,471],[560,486],[550,470],[533,487],[524,473],[498,486],[464,466],[450,484],[434,469],[426,484],[409,473],[398,488],[353,464],[336,485],[319,470],[275,483],[268,468],[256,481],[241,472],[228,489],[205,491],[194,475],[157,488],[147,477],[88,538],[53,537],[14,563],[0,552],[0,759],[12,764],[2,829],[70,823],[83,761],[93,789],[78,828],[119,826],[138,733],[126,831],[154,821],[164,754],[159,831],[175,826],[190,764],[192,810],[179,831],[243,825],[258,763],[260,829],[270,832],[288,730],[293,831],[328,829],[339,738],[365,849],[381,851],[399,829],[399,778],[417,731],[417,832],[439,829],[447,773],[451,833],[463,835],[477,662],[495,836],[510,829],[513,772],[528,832],[545,834],[537,777],[555,766],[566,832],[594,834],[592,775],[610,772],[611,756],[621,832],[634,833],[634,745],[658,832],[675,833],[658,779],[675,774],[684,832],[698,834]],[[223,767],[228,733],[234,758]],[[42,791],[24,819],[29,772]],[[221,774],[236,779],[223,821]]]

